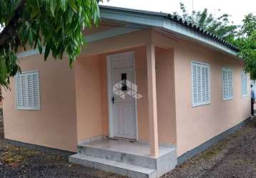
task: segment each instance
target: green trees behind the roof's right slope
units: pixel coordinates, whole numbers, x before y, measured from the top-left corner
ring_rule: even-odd
[[[250,74],[252,80],[256,80],[256,16],[248,14],[243,19],[242,26],[235,26],[230,23],[230,15],[222,14],[215,17],[207,9],[203,11],[187,12],[184,4],[180,4],[182,14],[175,12],[184,21],[200,26],[226,41],[240,48],[240,56],[245,61],[245,71]]]

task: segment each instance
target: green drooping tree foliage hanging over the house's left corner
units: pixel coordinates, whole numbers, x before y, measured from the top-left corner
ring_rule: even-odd
[[[46,60],[64,53],[70,65],[86,44],[82,30],[99,21],[99,0],[0,0],[0,85],[20,71],[18,48],[38,48]],[[1,29],[2,28],[2,29]]]

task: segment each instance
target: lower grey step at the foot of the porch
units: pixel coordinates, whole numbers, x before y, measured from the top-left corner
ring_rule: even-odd
[[[76,154],[69,157],[69,162],[74,164],[80,164],[85,167],[92,167],[94,169],[100,169],[106,172],[114,172],[122,176],[127,177],[147,177],[156,178],[157,171],[155,169],[149,169],[145,167],[139,167],[132,164],[123,162],[116,162],[109,159],[102,159],[99,157],[91,157],[82,154]]]

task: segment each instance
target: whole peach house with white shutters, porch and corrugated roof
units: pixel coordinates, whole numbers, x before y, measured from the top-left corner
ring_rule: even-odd
[[[101,6],[101,16],[74,68],[18,54],[22,73],[4,91],[6,139],[159,177],[250,117],[238,48],[167,14]]]

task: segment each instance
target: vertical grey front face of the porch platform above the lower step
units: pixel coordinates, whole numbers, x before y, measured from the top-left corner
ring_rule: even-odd
[[[115,162],[123,162],[134,166],[147,167],[149,169],[157,169],[156,159],[142,155],[134,155],[126,152],[117,152],[96,147],[81,146],[78,147],[81,155],[89,157],[98,157],[102,159],[112,160]]]

